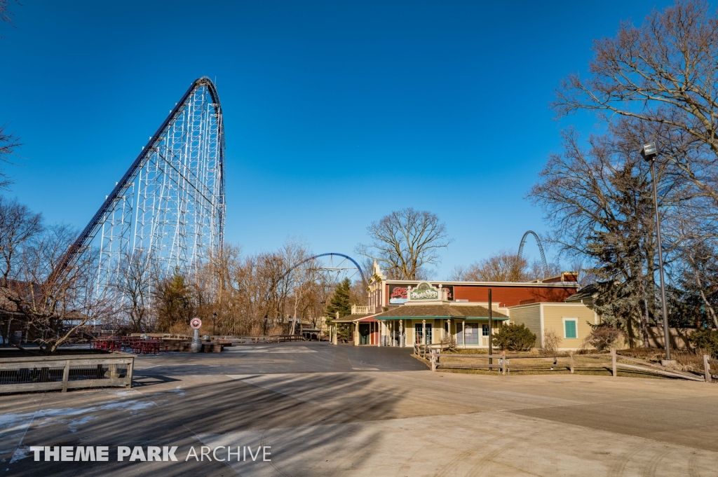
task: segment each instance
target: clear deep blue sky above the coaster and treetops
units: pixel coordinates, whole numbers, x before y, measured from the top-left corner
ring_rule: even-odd
[[[192,80],[225,115],[226,240],[352,253],[395,209],[439,214],[454,265],[545,232],[524,199],[559,151],[561,77],[668,1],[35,1],[0,25],[6,193],[83,227]],[[538,257],[533,243],[526,252]],[[549,260],[553,253],[549,250]]]

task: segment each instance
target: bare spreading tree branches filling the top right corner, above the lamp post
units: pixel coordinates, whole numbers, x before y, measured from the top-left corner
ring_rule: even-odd
[[[718,207],[718,16],[709,4],[679,0],[653,10],[640,27],[623,22],[593,51],[589,77],[572,74],[561,82],[557,113],[588,109],[606,121],[653,123],[656,133],[646,139],[658,140],[661,159]]]

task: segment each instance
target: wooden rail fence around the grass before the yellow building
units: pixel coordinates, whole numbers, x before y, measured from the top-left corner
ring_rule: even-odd
[[[415,352],[416,352],[416,346],[414,346]],[[426,350],[424,350],[426,353]],[[606,369],[607,371],[611,372],[611,375],[613,377],[617,376],[618,369],[630,369],[632,371],[640,371],[645,372],[648,374],[658,374],[659,376],[666,376],[666,377],[676,377],[681,379],[689,379],[691,381],[705,381],[705,382],[711,382],[711,374],[712,372],[718,372],[718,369],[710,369],[710,364],[718,364],[718,359],[709,359],[708,356],[704,356],[704,367],[705,367],[705,377],[697,376],[696,374],[685,372],[685,371],[678,371],[676,369],[669,369],[666,367],[661,366],[660,364],[653,364],[645,362],[641,359],[635,359],[630,358],[628,356],[621,356],[620,354],[616,354],[615,350],[612,350],[610,354],[607,353],[598,353],[598,354],[539,354],[539,355],[527,355],[527,354],[506,354],[505,351],[501,354],[452,354],[452,353],[442,353],[438,349],[432,348],[429,349],[430,353],[430,360],[432,365],[432,371],[436,371],[437,369],[489,369],[490,371],[493,369],[500,370],[501,374],[507,374],[512,369],[514,371],[528,371],[528,370],[541,370],[546,369],[548,367],[551,368],[551,370],[557,370],[557,369],[567,369],[571,374],[574,373],[574,369],[581,368],[598,368],[598,369]],[[417,353],[418,354],[418,353]],[[419,355],[421,356],[421,355]],[[461,362],[449,362],[444,361],[443,359],[448,358],[459,358],[459,359],[485,359],[488,360],[488,363],[461,363]],[[577,363],[577,358],[588,358],[588,359],[607,359],[610,358],[609,361],[604,362],[595,362],[595,363],[586,363],[581,362]],[[497,360],[496,362],[493,362],[493,360]],[[510,364],[510,360],[521,360],[521,359],[539,359],[541,361],[551,360],[550,363],[540,363],[540,364],[518,364],[513,365]],[[559,359],[567,359],[567,362],[561,362],[559,364]],[[620,360],[628,361],[635,364],[626,364],[620,362]]]

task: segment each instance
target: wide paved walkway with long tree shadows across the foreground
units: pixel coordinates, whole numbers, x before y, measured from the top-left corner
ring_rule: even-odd
[[[12,476],[718,476],[718,384],[432,373],[405,351],[141,357],[128,391],[0,397],[0,459]],[[34,462],[29,445],[111,459]],[[118,462],[118,445],[176,445],[179,461]],[[202,445],[271,446],[271,461],[185,461]]]

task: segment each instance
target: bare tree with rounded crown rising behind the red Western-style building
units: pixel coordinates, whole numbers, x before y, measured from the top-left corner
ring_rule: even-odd
[[[358,245],[356,251],[385,264],[388,276],[398,280],[424,278],[427,265],[440,263],[438,250],[453,241],[436,214],[411,207],[372,222],[367,232],[371,244]]]

